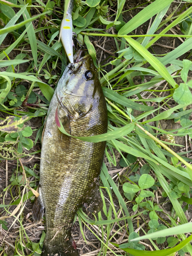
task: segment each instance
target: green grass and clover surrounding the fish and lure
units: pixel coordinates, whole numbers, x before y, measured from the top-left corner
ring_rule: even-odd
[[[74,31],[98,68],[109,126],[105,135],[79,138],[105,140],[106,150],[103,208],[78,210],[77,248],[87,256],[191,255],[191,3],[86,3],[75,3]],[[62,15],[58,0],[0,0],[0,256],[40,255],[45,239],[31,202],[49,102],[67,65]]]

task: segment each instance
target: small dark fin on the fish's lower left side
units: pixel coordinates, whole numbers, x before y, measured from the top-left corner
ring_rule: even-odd
[[[44,209],[45,206],[43,205],[41,196],[39,195],[38,197],[35,198],[32,209],[32,217],[36,224],[38,224],[41,221],[42,216],[44,215]]]

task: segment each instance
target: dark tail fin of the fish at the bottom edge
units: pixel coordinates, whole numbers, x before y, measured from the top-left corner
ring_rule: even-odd
[[[77,249],[74,248],[76,245],[74,246],[73,243],[68,244],[67,246],[65,243],[65,247],[66,248],[53,246],[49,248],[48,246],[44,245],[41,256],[79,256]]]

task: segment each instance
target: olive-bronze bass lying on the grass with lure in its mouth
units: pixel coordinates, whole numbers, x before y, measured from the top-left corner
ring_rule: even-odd
[[[46,239],[42,256],[78,256],[71,227],[79,207],[91,195],[100,175],[105,141],[86,142],[71,136],[107,132],[108,114],[101,84],[91,56],[75,55],[61,76],[50,102],[42,140],[39,197],[32,217],[39,223],[46,212]]]

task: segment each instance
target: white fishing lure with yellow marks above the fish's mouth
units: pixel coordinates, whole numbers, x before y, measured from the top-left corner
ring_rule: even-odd
[[[73,24],[72,24],[72,10],[73,10],[73,2],[70,1],[69,8],[65,11],[66,15],[64,15],[61,20],[59,39],[61,39],[62,45],[66,51],[66,55],[70,63],[73,65]]]

